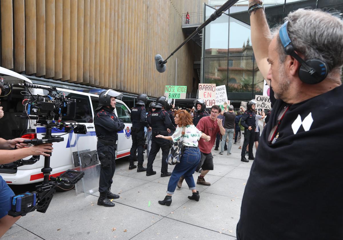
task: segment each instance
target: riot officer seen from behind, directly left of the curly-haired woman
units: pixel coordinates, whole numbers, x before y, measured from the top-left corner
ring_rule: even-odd
[[[154,163],[156,154],[159,149],[162,148],[162,168],[161,177],[168,177],[171,175],[168,172],[168,164],[166,159],[169,154],[169,141],[163,138],[157,138],[158,134],[168,136],[170,131],[175,131],[175,127],[171,123],[170,117],[164,108],[167,105],[167,98],[165,96],[158,97],[156,100],[155,111],[148,115],[147,120],[149,125],[152,127],[152,143],[151,150],[148,156],[148,163],[146,169],[146,176],[156,174],[153,170],[152,164]]]

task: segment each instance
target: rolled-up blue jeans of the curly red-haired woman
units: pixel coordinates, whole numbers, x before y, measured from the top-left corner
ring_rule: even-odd
[[[199,148],[188,148],[185,146],[185,153],[182,155],[180,159],[180,163],[175,165],[173,172],[171,172],[171,176],[168,182],[167,193],[173,194],[177,182],[179,181],[181,176],[185,177],[187,185],[189,189],[193,190],[196,189],[193,173],[200,162],[200,150]]]

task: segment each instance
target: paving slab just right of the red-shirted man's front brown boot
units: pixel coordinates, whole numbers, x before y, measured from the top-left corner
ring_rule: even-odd
[[[223,177],[203,192],[242,199],[246,183],[247,180]]]

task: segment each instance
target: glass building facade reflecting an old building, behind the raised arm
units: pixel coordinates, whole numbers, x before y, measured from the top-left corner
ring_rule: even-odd
[[[223,1],[224,3],[225,1]],[[342,0],[286,0],[266,4],[265,13],[270,27],[282,24],[283,18],[299,8],[322,9],[342,18]],[[241,101],[263,95],[264,79],[260,73],[251,46],[250,17],[248,6],[243,2],[239,9],[226,11],[221,17],[205,27],[203,32],[202,82],[226,85],[228,99],[235,107]],[[237,8],[236,8],[237,9]],[[205,4],[204,17],[216,9]]]

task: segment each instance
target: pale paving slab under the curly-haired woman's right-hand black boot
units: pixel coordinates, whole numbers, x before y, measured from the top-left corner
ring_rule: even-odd
[[[173,214],[167,216],[236,236],[242,202],[240,199],[202,192],[199,202],[194,202],[189,201],[181,205]]]

